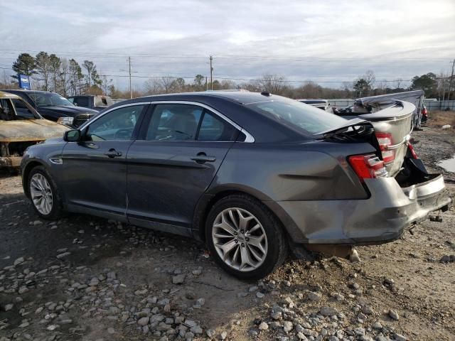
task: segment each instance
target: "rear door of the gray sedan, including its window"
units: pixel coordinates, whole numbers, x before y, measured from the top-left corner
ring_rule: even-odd
[[[127,155],[129,222],[188,234],[196,203],[240,130],[193,102],[161,102]]]

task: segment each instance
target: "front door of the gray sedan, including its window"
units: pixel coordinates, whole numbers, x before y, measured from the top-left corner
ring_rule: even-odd
[[[125,217],[127,152],[147,107],[134,104],[112,109],[83,129],[82,141],[65,145],[62,193],[70,210]]]

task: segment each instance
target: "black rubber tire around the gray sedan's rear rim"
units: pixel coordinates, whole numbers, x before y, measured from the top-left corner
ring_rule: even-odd
[[[240,271],[234,269],[230,265],[223,261],[222,257],[218,254],[215,249],[213,242],[212,231],[213,224],[216,217],[220,212],[231,207],[239,207],[240,209],[246,210],[254,215],[264,229],[267,236],[267,254],[263,263],[257,267],[257,269],[251,271]],[[278,266],[282,265],[287,258],[288,243],[285,238],[285,234],[282,229],[282,224],[277,220],[272,212],[259,200],[249,195],[228,195],[223,197],[211,208],[207,219],[205,220],[205,240],[208,245],[208,249],[212,254],[215,261],[229,274],[244,279],[244,280],[256,280],[264,278]]]

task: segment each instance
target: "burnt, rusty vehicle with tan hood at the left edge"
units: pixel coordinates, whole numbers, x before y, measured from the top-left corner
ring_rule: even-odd
[[[68,128],[43,119],[15,94],[0,92],[0,168],[18,168],[28,146],[63,136]]]

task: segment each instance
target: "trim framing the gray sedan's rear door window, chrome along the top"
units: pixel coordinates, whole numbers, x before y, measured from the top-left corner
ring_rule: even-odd
[[[203,104],[203,103],[200,103],[200,102],[193,102],[193,101],[152,101],[152,102],[150,102],[150,104],[153,106],[153,109],[151,110],[150,114],[147,113],[149,115],[153,114],[156,104],[189,104],[189,105],[194,105],[196,107],[201,107],[201,108],[203,108],[205,110],[208,110],[209,112],[215,114],[220,119],[223,119],[224,121],[226,121],[228,124],[230,124],[235,129],[237,129],[239,131],[239,134],[240,133],[245,134],[245,136],[246,136],[245,137],[245,141],[199,141],[199,140],[196,140],[196,139],[190,140],[190,141],[188,141],[188,140],[156,141],[156,140],[136,139],[136,141],[146,141],[146,142],[204,142],[204,143],[208,143],[208,142],[224,142],[224,143],[230,142],[230,143],[247,143],[247,144],[252,144],[252,143],[255,142],[255,137],[252,136],[252,134],[250,134],[246,129],[242,128],[241,126],[236,124],[235,121],[232,121],[232,119],[230,119],[229,117],[226,117],[225,115],[223,115],[220,112],[218,112],[218,110],[213,109],[213,107],[209,107],[206,104]],[[203,110],[203,112],[205,110]],[[148,117],[148,118],[151,119],[151,116]],[[198,131],[199,131],[199,126],[198,126]]]

